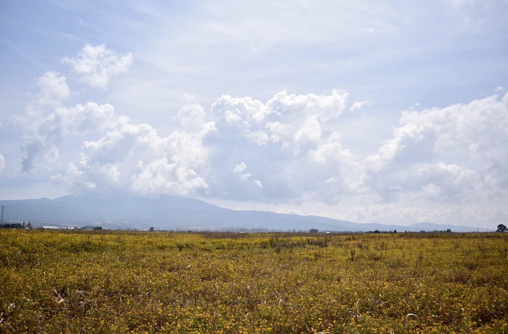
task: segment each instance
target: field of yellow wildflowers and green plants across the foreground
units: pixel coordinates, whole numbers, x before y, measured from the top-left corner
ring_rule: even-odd
[[[0,332],[504,333],[507,252],[508,233],[4,229]]]

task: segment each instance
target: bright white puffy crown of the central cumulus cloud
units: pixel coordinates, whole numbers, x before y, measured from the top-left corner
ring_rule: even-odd
[[[320,140],[322,124],[342,113],[347,95],[339,90],[331,95],[289,95],[284,90],[266,104],[223,95],[212,104],[212,112],[221,131],[258,145],[280,143],[283,149],[298,151],[303,144]]]

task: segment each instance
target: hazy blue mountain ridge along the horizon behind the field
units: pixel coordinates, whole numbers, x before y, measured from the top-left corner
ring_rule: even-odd
[[[475,231],[476,228],[427,222],[403,225],[354,223],[319,216],[299,216],[269,211],[230,210],[199,199],[160,195],[67,195],[55,199],[0,201],[5,206],[4,222],[58,223],[68,226],[103,224],[110,228],[153,226],[163,229],[235,229],[372,231],[446,230]],[[485,230],[485,229],[482,229]]]

